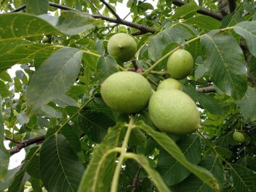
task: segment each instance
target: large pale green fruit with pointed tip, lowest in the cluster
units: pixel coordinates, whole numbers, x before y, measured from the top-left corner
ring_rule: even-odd
[[[177,89],[156,91],[150,98],[148,111],[154,125],[170,134],[190,134],[201,127],[197,105]]]

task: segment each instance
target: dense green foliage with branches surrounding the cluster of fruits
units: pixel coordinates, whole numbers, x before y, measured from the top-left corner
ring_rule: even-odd
[[[253,1],[0,3],[0,191],[256,191]],[[118,32],[137,42],[125,63],[107,52]],[[195,60],[180,83],[199,107],[197,132],[166,134],[147,107],[125,115],[104,103],[100,85],[118,71],[141,73],[156,90],[180,48]]]

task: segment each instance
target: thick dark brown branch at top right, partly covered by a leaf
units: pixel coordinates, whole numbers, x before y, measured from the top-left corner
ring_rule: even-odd
[[[172,4],[181,7],[187,4],[187,2],[181,0],[173,0]],[[205,7],[199,7],[197,13],[213,17],[214,19],[218,19],[219,21],[223,19],[223,15],[220,11],[211,11],[210,9],[206,9]]]

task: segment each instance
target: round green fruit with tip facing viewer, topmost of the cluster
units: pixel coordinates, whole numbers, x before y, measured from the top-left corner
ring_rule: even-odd
[[[137,43],[128,34],[115,34],[108,40],[108,53],[113,56],[117,62],[126,62],[131,60],[137,52]]]

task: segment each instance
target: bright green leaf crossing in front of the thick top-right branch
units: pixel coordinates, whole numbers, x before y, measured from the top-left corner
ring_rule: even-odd
[[[170,17],[170,19],[177,19],[179,17],[184,17],[185,15],[188,15],[189,13],[193,13],[199,9],[197,3],[186,3],[185,5],[178,7],[175,9],[174,15]]]

